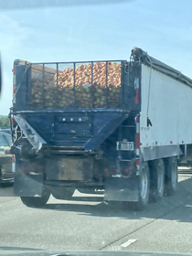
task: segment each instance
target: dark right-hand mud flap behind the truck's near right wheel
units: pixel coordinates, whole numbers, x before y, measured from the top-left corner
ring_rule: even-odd
[[[104,189],[104,200],[137,202],[139,200],[139,176],[108,178]]]

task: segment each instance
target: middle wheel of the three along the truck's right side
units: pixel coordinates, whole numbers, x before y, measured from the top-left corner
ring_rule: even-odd
[[[150,200],[158,202],[164,197],[165,165],[162,159],[150,163]]]

